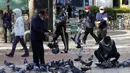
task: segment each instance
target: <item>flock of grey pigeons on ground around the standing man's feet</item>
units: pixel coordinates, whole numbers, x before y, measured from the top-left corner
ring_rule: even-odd
[[[6,73],[6,69],[11,69],[10,73],[85,73],[87,70],[91,69],[91,65],[93,56],[91,56],[88,60],[80,60],[80,63],[84,66],[81,66],[80,69],[74,66],[74,63],[71,59],[64,61],[51,61],[45,65],[40,64],[40,66],[36,66],[35,63],[29,63],[27,59],[24,59],[25,69],[21,67],[17,67],[14,63],[4,61],[5,68],[0,69],[0,73]]]

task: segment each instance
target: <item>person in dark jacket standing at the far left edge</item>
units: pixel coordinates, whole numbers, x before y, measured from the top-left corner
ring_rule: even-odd
[[[4,9],[2,14],[2,20],[3,20],[3,28],[4,28],[4,41],[7,43],[7,29],[9,32],[12,32],[12,24],[11,24],[11,14],[8,13],[7,9]],[[12,42],[12,37],[10,36],[10,42]]]

